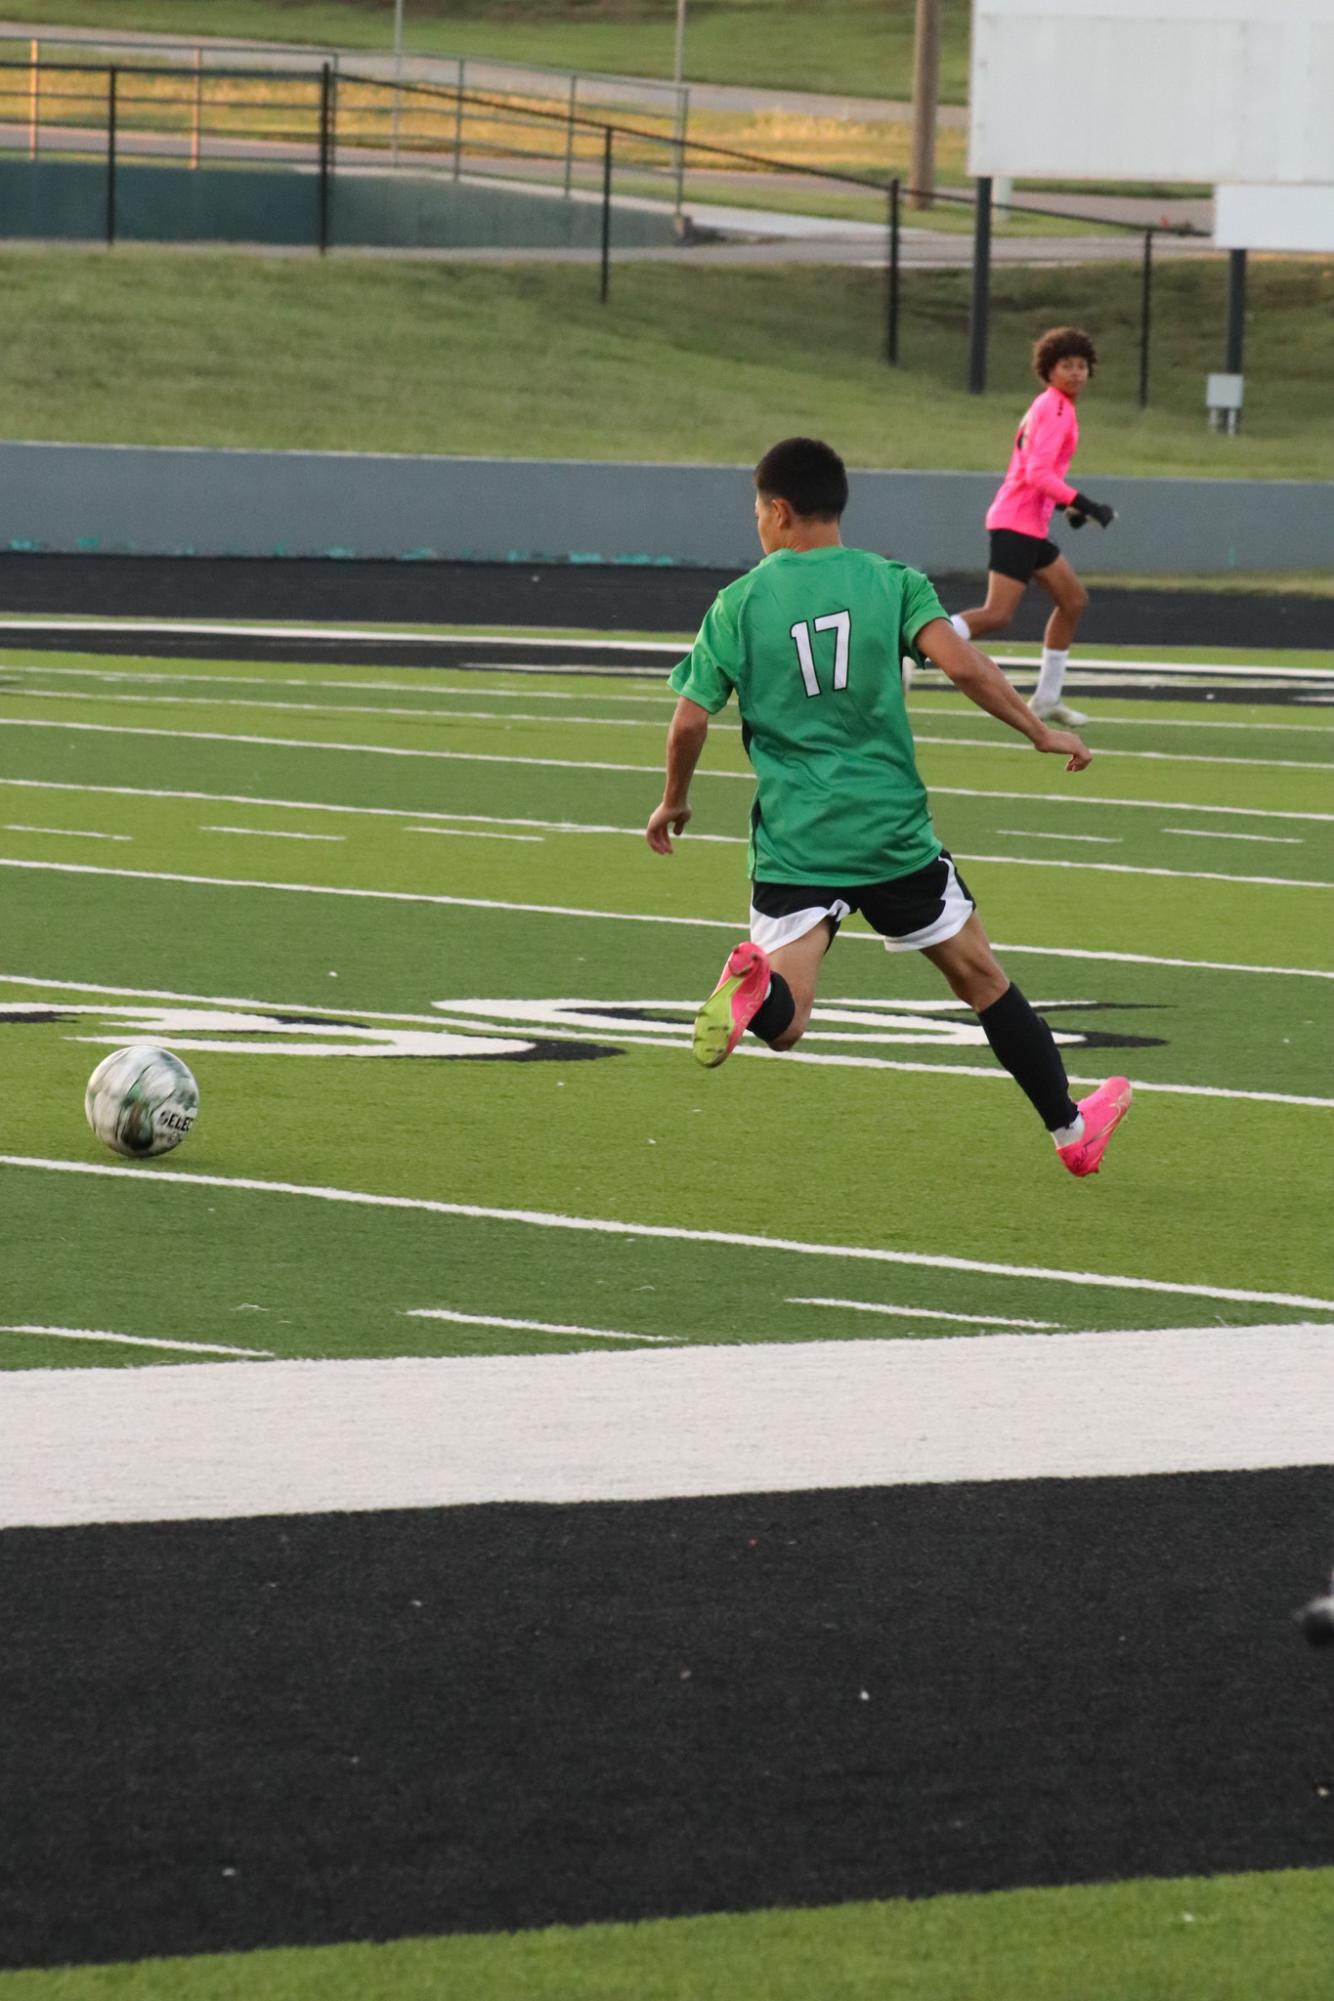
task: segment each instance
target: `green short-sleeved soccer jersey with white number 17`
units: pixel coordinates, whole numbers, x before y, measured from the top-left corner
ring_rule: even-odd
[[[946,616],[918,570],[842,544],[774,550],[718,592],[670,686],[710,714],[736,690],[756,882],[886,882],[940,854],[900,662]]]

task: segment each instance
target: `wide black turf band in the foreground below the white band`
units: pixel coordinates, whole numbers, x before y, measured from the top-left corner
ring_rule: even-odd
[[[8,1967],[1334,1863],[1334,1475],[0,1537]]]

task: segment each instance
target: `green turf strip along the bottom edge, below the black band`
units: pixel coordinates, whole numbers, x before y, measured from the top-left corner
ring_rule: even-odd
[[[0,1975],[0,2001],[1324,2001],[1330,1871]]]

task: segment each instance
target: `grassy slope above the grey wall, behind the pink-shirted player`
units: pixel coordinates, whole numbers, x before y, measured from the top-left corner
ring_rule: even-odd
[[[1152,408],[1136,404],[1132,266],[998,270],[992,388],[968,396],[966,272],[904,278],[904,366],[880,360],[884,274],[436,266],[238,252],[6,250],[6,430],[120,444],[732,460],[814,430],[854,464],[1004,464],[1052,316],[1098,330],[1080,410],[1100,472],[1328,478],[1334,266],[1260,264],[1246,432],[1202,416],[1224,264],[1164,266]],[[150,350],[146,332],[152,330]],[[152,352],[148,386],[146,352]]]

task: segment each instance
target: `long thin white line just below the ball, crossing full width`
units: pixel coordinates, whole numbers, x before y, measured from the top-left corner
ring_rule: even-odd
[[[666,1239],[668,1243],[726,1245],[740,1251],[762,1251],[766,1257],[832,1257],[868,1265],[914,1265],[926,1271],[972,1271],[994,1279],[1044,1279],[1052,1285],[1110,1289],[1114,1293],[1162,1293],[1182,1299],[1226,1299],[1238,1305],[1296,1307],[1334,1313],[1334,1299],[1312,1299],[1306,1293],[1260,1293],[1230,1285],[1186,1285],[1176,1279],[1140,1279],[1136,1275],[1058,1271],[1052,1265],[1008,1265],[990,1259],[952,1257],[928,1251],[888,1251],[880,1245],[828,1245],[798,1237],[760,1237],[750,1231],[696,1231],[674,1223],[622,1223],[614,1217],[570,1217],[548,1209],[498,1209],[486,1203],[440,1203],[424,1195],[372,1195],[362,1189],[328,1189],[296,1181],[256,1181],[248,1175],[188,1175],[178,1169],[142,1165],[114,1167],[94,1161],[50,1161],[38,1155],[0,1153],[0,1167],[20,1167],[44,1175],[90,1175],[98,1181],[136,1179],[142,1189],[222,1189],[238,1195],[288,1195],[316,1203],[338,1203],[356,1209],[396,1209],[428,1217],[462,1217],[470,1223],[516,1223],[524,1229],[574,1231],[588,1237]]]

